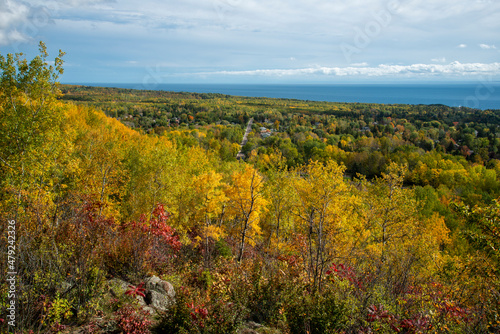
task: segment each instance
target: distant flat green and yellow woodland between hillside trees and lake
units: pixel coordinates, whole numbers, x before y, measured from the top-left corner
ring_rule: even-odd
[[[280,152],[288,167],[334,160],[346,166],[348,175],[371,179],[397,162],[408,167],[405,184],[444,186],[469,204],[474,199],[467,198],[476,195],[491,203],[500,189],[498,110],[81,86],[63,86],[63,91],[64,98],[78,93],[99,101],[91,104],[112,117],[116,116],[112,108],[126,103],[117,117],[122,123],[164,135],[179,145],[215,150],[225,161],[235,159],[252,118],[252,132],[242,152],[254,163]],[[133,108],[143,111],[127,113]]]

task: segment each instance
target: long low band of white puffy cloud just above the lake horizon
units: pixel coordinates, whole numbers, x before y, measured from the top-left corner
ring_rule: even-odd
[[[244,75],[244,76],[465,76],[465,75],[500,75],[500,63],[466,63],[452,62],[446,65],[438,64],[413,64],[413,65],[385,65],[377,67],[310,67],[301,69],[266,69],[249,71],[218,71],[198,73],[203,75]]]

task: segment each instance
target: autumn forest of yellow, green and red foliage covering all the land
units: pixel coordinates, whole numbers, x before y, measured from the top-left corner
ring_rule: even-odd
[[[500,110],[61,85],[63,56],[0,55],[2,332],[500,331]]]

